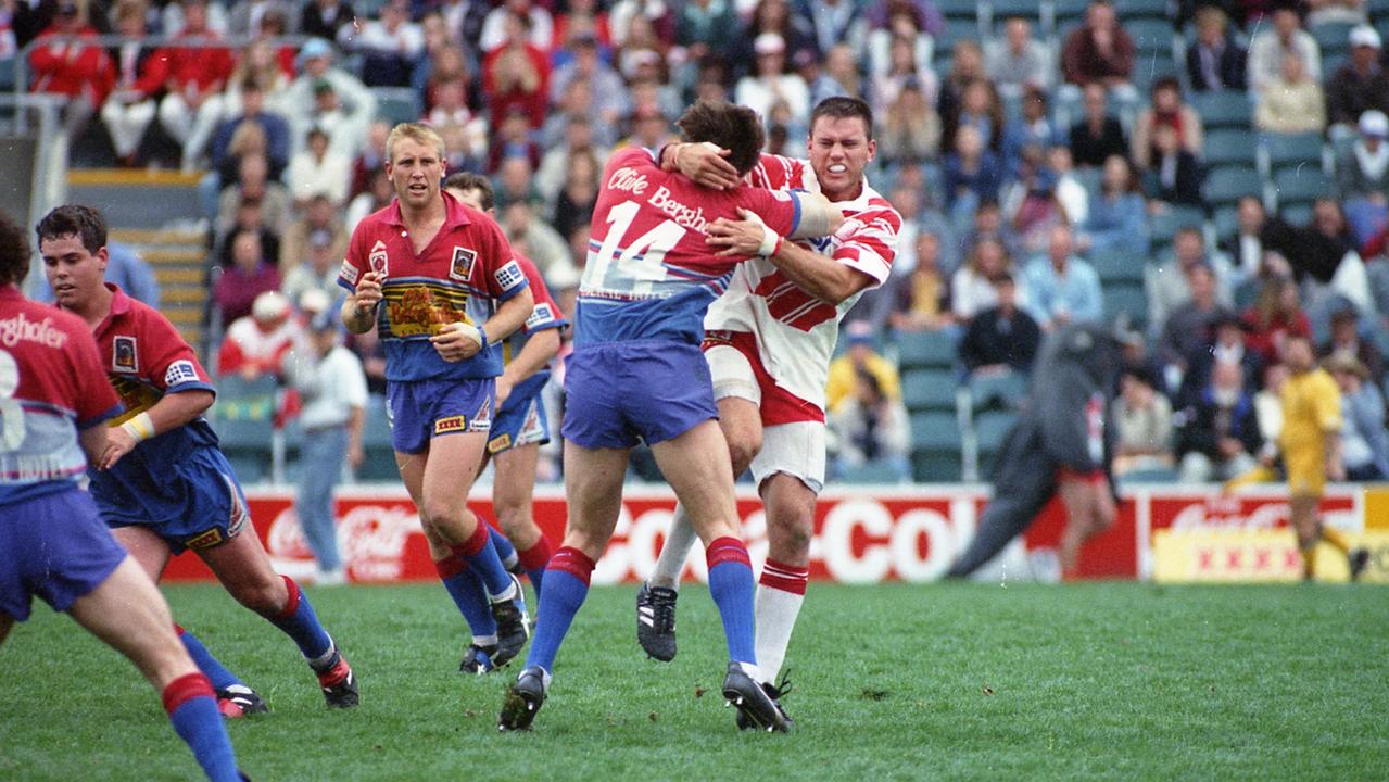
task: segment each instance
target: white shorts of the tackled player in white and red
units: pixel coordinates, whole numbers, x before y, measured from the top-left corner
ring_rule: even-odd
[[[746,399],[763,407],[763,382],[749,357],[731,344],[704,349],[710,375],[714,381],[714,400]],[[786,394],[782,389],[772,393]],[[765,411],[764,411],[765,413]],[[753,479],[761,486],[778,472],[799,479],[820,494],[825,488],[825,424],[824,421],[792,421],[768,424],[763,419],[763,449],[750,465]]]

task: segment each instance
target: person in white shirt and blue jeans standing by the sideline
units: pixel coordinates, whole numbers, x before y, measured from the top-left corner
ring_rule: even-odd
[[[282,371],[288,385],[299,392],[299,413],[304,432],[300,447],[299,496],[294,515],[314,553],[314,583],[343,583],[342,553],[333,514],[333,488],[343,465],[361,467],[363,431],[367,421],[367,375],[361,360],[343,347],[338,318],[329,307],[308,326],[301,349],[288,353]]]

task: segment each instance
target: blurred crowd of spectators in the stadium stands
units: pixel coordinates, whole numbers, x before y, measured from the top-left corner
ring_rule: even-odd
[[[840,469],[933,478],[913,469],[903,340],[943,335],[970,388],[1103,321],[1125,335],[1118,472],[1222,481],[1267,460],[1297,333],[1347,400],[1347,476],[1375,479],[1386,22],[1372,0],[8,0],[0,56],[26,51],[31,89],[67,96],[67,132],[104,131],[119,164],[146,163],[157,121],[207,171],[221,374],[281,374],[335,311],[347,238],[392,197],[393,121],[433,125],[450,171],[493,179],[499,224],[572,317],[614,149],[656,150],[720,97],[803,157],[810,107],[856,94],[903,226],[831,374]],[[383,393],[372,333],[350,347]]]

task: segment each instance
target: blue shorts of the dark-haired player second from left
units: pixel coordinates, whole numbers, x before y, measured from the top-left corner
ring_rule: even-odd
[[[236,538],[250,511],[232,465],[215,447],[193,449],[144,485],[92,482],[92,499],[107,526],[143,526],[175,554],[211,549]]]

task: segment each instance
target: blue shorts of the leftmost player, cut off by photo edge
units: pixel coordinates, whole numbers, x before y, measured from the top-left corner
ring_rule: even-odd
[[[67,611],[125,556],[92,497],[76,486],[0,506],[0,611],[22,622],[35,594]]]

